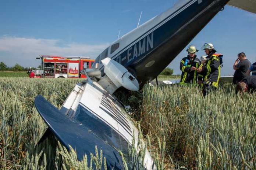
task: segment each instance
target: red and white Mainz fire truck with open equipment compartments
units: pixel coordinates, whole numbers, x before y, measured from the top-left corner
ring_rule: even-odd
[[[80,71],[91,68],[94,62],[82,56],[40,55],[36,59],[42,60],[42,70],[35,70],[35,74],[42,78],[86,78]]]

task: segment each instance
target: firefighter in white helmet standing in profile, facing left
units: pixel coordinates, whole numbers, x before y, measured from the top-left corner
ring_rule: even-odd
[[[205,43],[202,49],[205,50],[207,55],[206,65],[198,69],[198,72],[200,74],[206,74],[202,90],[203,96],[206,96],[207,92],[218,88],[223,55],[217,54],[213,44],[210,43]]]

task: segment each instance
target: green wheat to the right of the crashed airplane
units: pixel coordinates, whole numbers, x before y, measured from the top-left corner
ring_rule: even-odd
[[[232,84],[200,93],[196,86],[146,85],[129,100],[151,143],[165,138],[175,169],[256,169],[256,94],[235,95]]]

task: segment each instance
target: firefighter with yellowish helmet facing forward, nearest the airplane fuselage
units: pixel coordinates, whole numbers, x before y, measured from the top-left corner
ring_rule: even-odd
[[[181,74],[181,81],[179,84],[196,84],[197,83],[197,69],[199,68],[201,62],[198,58],[196,58],[196,49],[195,45],[189,45],[188,49],[188,56],[183,58],[179,64],[179,69],[182,71]]]

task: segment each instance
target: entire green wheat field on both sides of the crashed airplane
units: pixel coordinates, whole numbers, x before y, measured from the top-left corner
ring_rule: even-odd
[[[36,145],[47,126],[35,96],[60,107],[77,81],[0,78],[0,169],[104,169],[98,149],[79,162],[54,137]],[[256,169],[255,93],[223,84],[203,98],[197,86],[146,85],[116,95],[132,106],[157,169]]]

